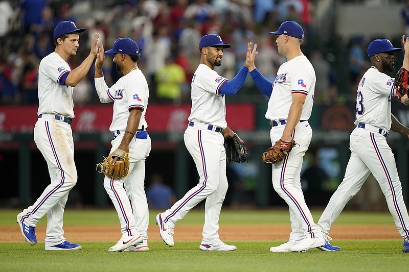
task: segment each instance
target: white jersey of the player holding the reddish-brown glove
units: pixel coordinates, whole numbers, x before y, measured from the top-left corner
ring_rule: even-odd
[[[300,120],[311,116],[315,89],[315,71],[306,56],[298,56],[283,63],[274,81],[265,117],[269,120],[287,120],[292,93],[307,95]]]

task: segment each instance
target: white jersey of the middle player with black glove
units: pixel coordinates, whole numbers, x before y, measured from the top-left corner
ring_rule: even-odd
[[[227,81],[205,64],[199,64],[192,79],[192,110],[189,121],[227,127],[224,94],[221,85]]]

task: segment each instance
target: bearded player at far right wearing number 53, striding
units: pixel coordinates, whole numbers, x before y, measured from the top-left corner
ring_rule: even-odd
[[[409,42],[404,42],[403,67],[409,69]],[[409,217],[403,202],[394,154],[387,142],[389,130],[409,137],[409,129],[391,113],[392,96],[396,96],[393,79],[386,73],[394,71],[393,47],[387,39],[376,39],[368,46],[369,68],[361,78],[356,92],[356,128],[349,140],[351,157],[344,180],[331,196],[317,225],[328,233],[332,223],[348,201],[359,191],[370,173],[378,181],[385,195],[396,227],[403,238],[403,252],[409,253]],[[401,102],[407,95],[401,98]]]

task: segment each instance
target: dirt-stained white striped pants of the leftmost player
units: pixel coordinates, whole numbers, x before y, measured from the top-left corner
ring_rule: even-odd
[[[47,213],[46,247],[66,240],[62,229],[64,207],[68,193],[77,183],[71,126],[55,120],[54,115],[50,116],[43,115],[37,120],[34,141],[47,161],[51,184],[32,206],[21,213],[22,221],[32,227]]]

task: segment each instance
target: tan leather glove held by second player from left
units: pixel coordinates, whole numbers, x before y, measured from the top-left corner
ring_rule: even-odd
[[[112,165],[113,159],[118,157],[117,162],[115,165]],[[104,174],[108,178],[112,178],[114,180],[120,180],[123,177],[128,175],[129,171],[129,156],[128,153],[116,149],[114,152],[109,154],[107,158],[104,157],[104,161],[97,164],[97,170],[100,167],[100,173]]]

